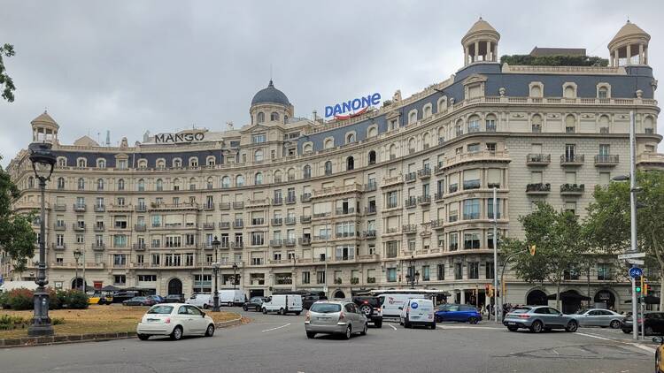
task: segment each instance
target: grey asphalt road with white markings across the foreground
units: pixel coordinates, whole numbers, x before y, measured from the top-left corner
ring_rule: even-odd
[[[240,313],[243,313],[241,310]],[[243,313],[251,324],[212,338],[120,339],[0,350],[0,372],[650,372],[652,346],[622,331],[583,328],[530,334],[496,324],[385,323],[350,340],[307,339],[302,316]]]

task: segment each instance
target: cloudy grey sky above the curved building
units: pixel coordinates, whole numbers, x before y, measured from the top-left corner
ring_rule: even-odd
[[[122,136],[132,144],[146,130],[242,126],[270,65],[300,117],[371,92],[411,95],[459,69],[460,39],[479,16],[501,34],[501,55],[537,45],[601,57],[629,16],[652,35],[655,77],[664,73],[660,0],[0,0],[0,9],[0,43],[17,52],[5,63],[16,101],[0,102],[4,165],[27,147],[30,120],[44,108],[63,143],[104,139],[106,130],[113,144]]]

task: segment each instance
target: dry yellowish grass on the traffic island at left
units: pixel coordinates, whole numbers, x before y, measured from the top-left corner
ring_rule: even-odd
[[[49,311],[51,323],[56,335],[112,333],[135,331],[136,324],[141,321],[148,307],[123,307],[91,305],[88,309],[57,309]],[[207,312],[215,322],[233,320],[239,315],[233,312]],[[33,311],[0,310],[0,317],[13,316],[28,321]],[[12,319],[14,319],[12,317]],[[27,337],[27,326],[24,329],[0,330],[0,339]]]

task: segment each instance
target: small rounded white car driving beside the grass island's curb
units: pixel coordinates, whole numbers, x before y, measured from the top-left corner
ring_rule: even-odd
[[[214,320],[200,308],[190,304],[162,303],[148,309],[136,326],[138,339],[146,340],[154,335],[170,336],[179,340],[187,335],[214,335]]]

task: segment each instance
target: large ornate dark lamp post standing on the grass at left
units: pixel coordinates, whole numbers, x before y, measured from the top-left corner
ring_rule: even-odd
[[[39,189],[42,194],[42,210],[39,222],[39,264],[37,267],[37,289],[35,290],[34,313],[32,324],[27,329],[27,335],[30,337],[53,335],[53,325],[50,324],[49,317],[49,293],[46,292],[45,285],[49,284],[46,280],[46,247],[44,239],[46,236],[46,209],[44,200],[46,181],[50,179],[53,173],[53,167],[56,163],[56,157],[50,152],[51,144],[48,142],[34,142],[28,146],[30,150],[30,162],[35,171],[35,177],[39,180]]]

